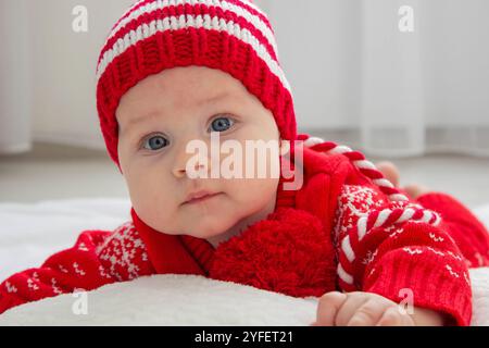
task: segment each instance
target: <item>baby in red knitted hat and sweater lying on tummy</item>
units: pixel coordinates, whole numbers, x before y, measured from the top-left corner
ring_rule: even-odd
[[[0,313],[176,273],[321,297],[314,325],[469,324],[468,268],[489,264],[482,224],[448,195],[403,191],[361,153],[297,135],[274,32],[251,1],[137,2],[112,28],[97,78],[131,221],[86,231],[73,248],[9,277]],[[224,146],[217,160],[189,151],[212,148],[216,135],[242,148],[272,144],[262,164],[280,175],[210,175],[259,165],[248,152],[229,165]],[[398,181],[391,165],[383,172]],[[412,311],[400,310],[405,294]]]

